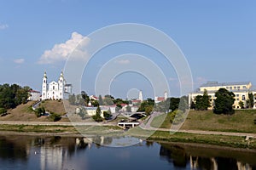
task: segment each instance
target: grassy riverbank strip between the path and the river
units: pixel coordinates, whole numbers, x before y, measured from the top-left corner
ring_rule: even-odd
[[[78,128],[79,127],[79,128]],[[82,131],[83,130],[83,131]],[[90,131],[89,131],[90,130]],[[81,134],[82,133],[82,134]],[[256,149],[256,139],[247,139],[246,136],[229,136],[217,134],[174,133],[168,131],[143,130],[140,127],[131,128],[129,131],[115,126],[65,126],[65,125],[11,125],[1,124],[2,135],[32,135],[32,136],[67,136],[84,137],[94,135],[131,135],[145,140],[160,142],[178,142],[187,144],[211,144],[225,147]]]

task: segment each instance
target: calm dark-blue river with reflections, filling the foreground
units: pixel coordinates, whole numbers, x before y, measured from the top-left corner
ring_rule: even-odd
[[[116,148],[86,141],[0,136],[0,169],[256,169],[256,150],[142,140]],[[105,141],[111,144],[114,139]]]

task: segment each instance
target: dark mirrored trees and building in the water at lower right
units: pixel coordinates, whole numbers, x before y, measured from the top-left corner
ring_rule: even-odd
[[[164,147],[163,147],[164,145]],[[212,151],[212,150],[210,150]],[[192,154],[192,155],[191,155]],[[190,169],[237,169],[251,170],[254,167],[249,163],[243,163],[230,155],[219,155],[216,153],[207,154],[207,150],[203,149],[185,149],[178,145],[161,144],[160,156],[173,164],[174,167]],[[241,158],[241,155],[237,155]]]

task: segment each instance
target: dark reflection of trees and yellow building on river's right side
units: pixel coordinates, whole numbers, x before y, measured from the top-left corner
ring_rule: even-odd
[[[160,156],[183,169],[256,169],[256,153],[241,150],[161,144]]]

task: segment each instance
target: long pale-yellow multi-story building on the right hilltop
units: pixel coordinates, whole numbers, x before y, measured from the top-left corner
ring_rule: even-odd
[[[192,101],[195,100],[195,96],[203,95],[204,91],[207,90],[207,94],[210,98],[211,103],[209,109],[213,109],[214,99],[216,99],[215,93],[218,91],[219,88],[226,88],[227,90],[235,94],[235,109],[241,109],[239,105],[240,101],[242,101],[244,103],[244,106],[246,107],[248,94],[252,93],[254,98],[253,108],[256,108],[256,91],[253,91],[251,82],[207,82],[205,84],[202,84],[200,88],[196,89],[194,93],[189,94],[189,105],[191,105]]]

